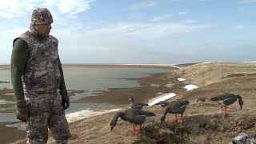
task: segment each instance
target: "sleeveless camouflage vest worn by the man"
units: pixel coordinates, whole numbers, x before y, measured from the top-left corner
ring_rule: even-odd
[[[57,91],[61,81],[58,39],[51,35],[42,37],[35,31],[26,31],[19,38],[29,46],[29,59],[22,75],[24,94]]]

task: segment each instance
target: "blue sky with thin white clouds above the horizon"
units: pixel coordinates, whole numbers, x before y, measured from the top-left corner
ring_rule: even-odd
[[[256,61],[256,0],[8,0],[0,64],[42,6],[62,63]]]

